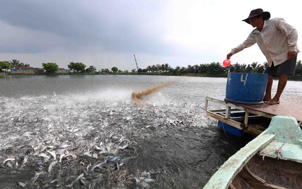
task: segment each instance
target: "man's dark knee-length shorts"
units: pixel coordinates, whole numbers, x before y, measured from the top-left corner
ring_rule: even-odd
[[[292,60],[286,60],[277,66],[274,66],[274,64],[272,64],[271,67],[267,66],[264,73],[272,76],[295,75],[296,62],[297,56]]]

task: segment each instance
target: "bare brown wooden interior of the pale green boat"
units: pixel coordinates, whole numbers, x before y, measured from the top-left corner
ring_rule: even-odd
[[[302,164],[255,155],[228,189],[301,189]]]

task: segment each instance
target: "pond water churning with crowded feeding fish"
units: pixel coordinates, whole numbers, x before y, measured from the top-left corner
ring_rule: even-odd
[[[132,102],[175,78],[0,79],[1,188],[202,188],[246,141],[204,111],[206,96],[225,96],[226,78],[182,77]],[[289,81],[283,97],[301,97],[299,85]]]

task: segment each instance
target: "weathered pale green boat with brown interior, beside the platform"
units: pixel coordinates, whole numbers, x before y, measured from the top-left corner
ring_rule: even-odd
[[[269,127],[231,156],[204,189],[302,189],[300,124],[293,117],[274,116]]]

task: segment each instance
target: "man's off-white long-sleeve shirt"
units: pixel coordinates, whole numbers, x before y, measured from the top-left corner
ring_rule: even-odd
[[[255,28],[242,44],[231,50],[231,53],[234,55],[257,43],[266,57],[268,66],[270,67],[272,62],[277,66],[288,59],[288,52],[300,52],[297,41],[297,30],[284,19],[274,18],[264,20],[263,30],[260,32]]]

